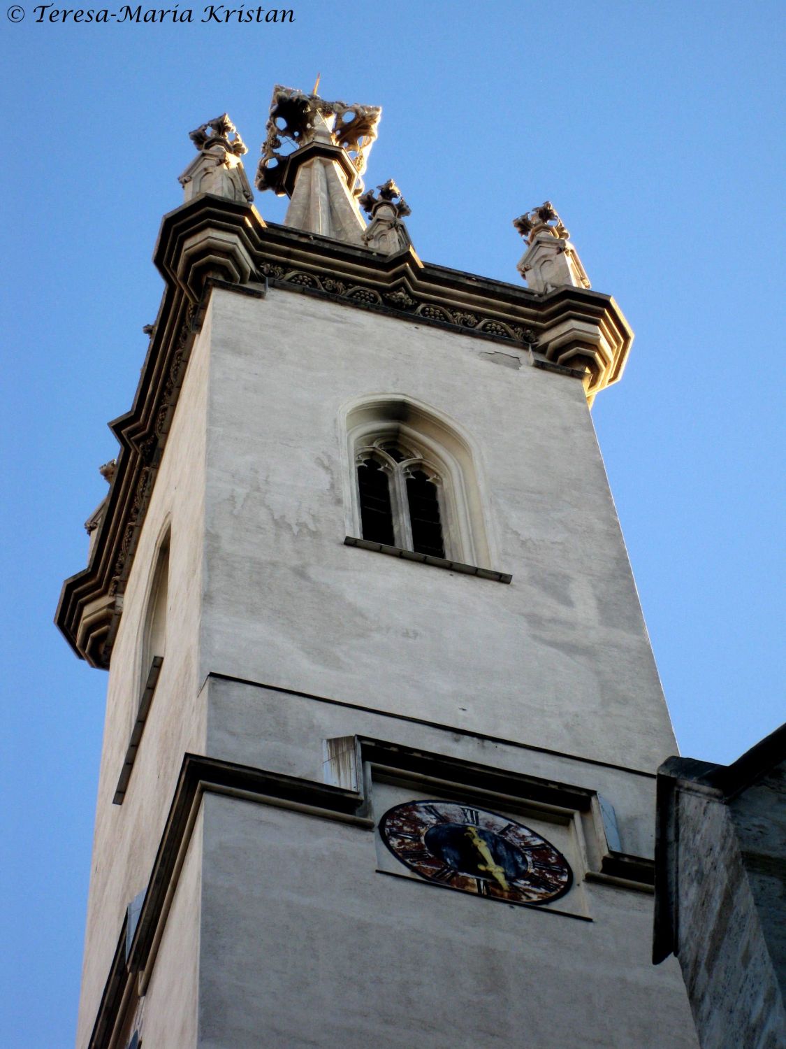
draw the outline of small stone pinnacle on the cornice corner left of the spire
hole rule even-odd
[[[199,193],[214,193],[249,204],[254,195],[240,160],[248,150],[227,114],[200,125],[189,137],[199,155],[178,178],[183,188],[183,202]]]

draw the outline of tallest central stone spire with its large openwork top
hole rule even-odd
[[[356,198],[381,110],[326,102],[315,93],[319,83],[318,74],[311,94],[274,88],[257,187],[289,196],[285,226],[363,244]]]

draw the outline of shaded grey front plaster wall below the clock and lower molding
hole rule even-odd
[[[368,831],[203,807],[200,1049],[696,1047],[651,897],[592,886],[593,922],[500,905],[376,873]]]

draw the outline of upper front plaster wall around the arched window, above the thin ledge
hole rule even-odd
[[[676,747],[584,391],[505,348],[214,293],[201,677],[654,771]],[[379,392],[474,437],[511,585],[343,545],[340,411]]]

